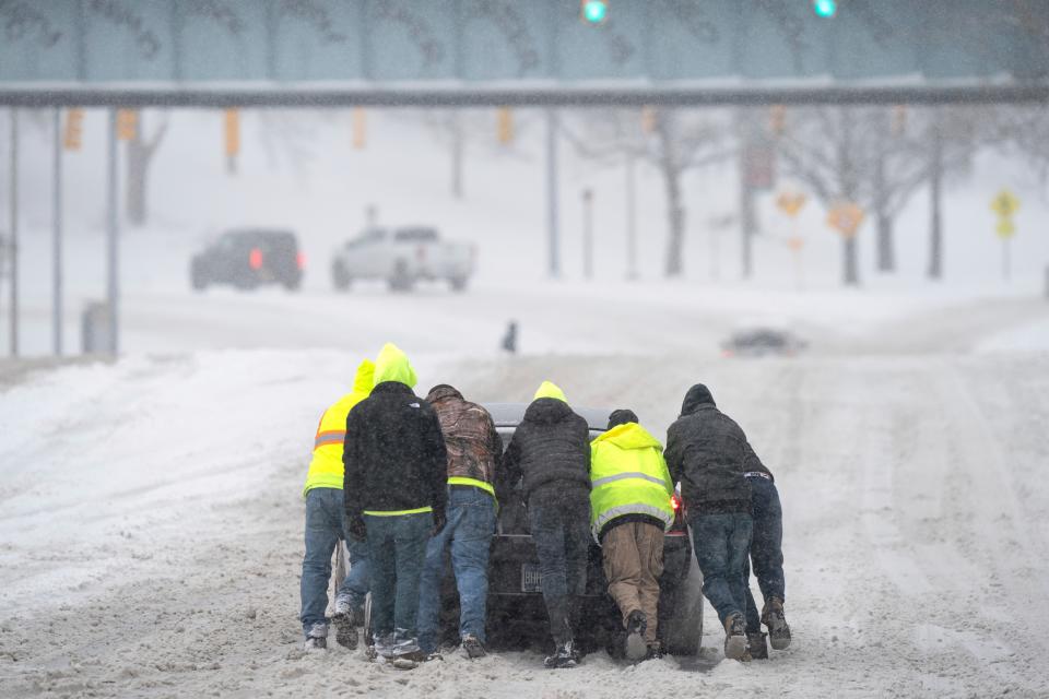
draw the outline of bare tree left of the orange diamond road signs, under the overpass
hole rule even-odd
[[[674,108],[587,111],[578,127],[566,127],[563,121],[562,129],[584,157],[605,165],[633,157],[659,170],[667,193],[663,273],[681,276],[685,247],[681,179],[689,169],[723,163],[736,154],[724,115]]]

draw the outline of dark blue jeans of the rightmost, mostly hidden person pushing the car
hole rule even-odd
[[[751,566],[762,589],[762,596],[786,600],[786,580],[783,579],[783,510],[779,505],[779,490],[767,478],[752,476],[751,505],[754,509],[754,536],[751,541],[751,560],[746,566],[746,632],[758,633],[762,619],[751,594]]]

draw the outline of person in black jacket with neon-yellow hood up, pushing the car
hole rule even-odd
[[[397,346],[382,347],[375,389],[346,419],[346,522],[367,537],[375,652],[424,660],[416,615],[426,543],[445,525],[447,454],[440,423],[412,392],[415,370]]]

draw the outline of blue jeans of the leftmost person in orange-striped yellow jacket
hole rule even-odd
[[[328,581],[331,580],[331,555],[344,540],[350,547],[350,572],[338,594],[350,595],[354,607],[363,607],[368,594],[368,548],[345,535],[345,510],[339,488],[313,488],[306,494],[306,555],[303,557],[303,580],[299,591],[303,632],[314,624],[327,624]]]

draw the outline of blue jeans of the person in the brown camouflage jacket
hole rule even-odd
[[[451,544],[451,569],[459,589],[459,637],[484,637],[488,600],[488,552],[495,533],[495,498],[471,486],[448,488],[448,523],[426,545],[419,599],[419,647],[427,653],[440,641],[440,583]]]

